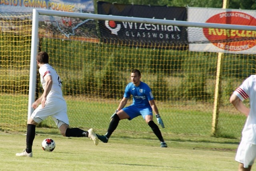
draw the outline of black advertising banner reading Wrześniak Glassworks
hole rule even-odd
[[[187,17],[184,7],[97,3],[98,14],[104,15],[182,21],[186,21]],[[133,42],[135,46],[154,44],[154,48],[173,48],[174,44],[180,44],[183,49],[187,47],[186,27],[100,20],[99,28],[103,39]]]

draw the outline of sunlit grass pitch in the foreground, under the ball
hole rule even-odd
[[[183,140],[181,135],[172,135],[173,140],[166,141],[168,148],[160,148],[154,137],[124,138],[117,133],[108,143],[99,142],[95,146],[88,138],[68,138],[36,130],[32,158],[15,156],[26,147],[23,133],[0,132],[1,171],[234,171],[238,168],[234,161],[237,140],[233,143],[214,137],[189,140],[188,136]],[[41,149],[41,142],[47,137],[56,142],[52,152]]]

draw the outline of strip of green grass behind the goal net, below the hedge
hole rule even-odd
[[[110,116],[115,111],[120,100],[90,98],[85,96],[65,96],[68,104],[70,127],[89,129],[94,127],[100,133],[108,128]],[[129,101],[130,103],[131,101]],[[6,131],[26,131],[28,97],[21,94],[2,94],[0,99],[0,129]],[[128,105],[128,104],[127,104]],[[161,129],[165,139],[172,139],[170,134],[207,135],[212,130],[212,105],[187,101],[186,105],[158,102],[158,109],[164,121],[165,128]],[[230,110],[233,109],[233,110]],[[246,117],[234,112],[234,107],[221,110],[218,119],[218,133],[216,137],[240,139],[242,127]],[[156,117],[154,117],[156,123]],[[56,128],[49,117],[42,122],[42,126]],[[116,131],[143,133],[147,138],[152,133],[150,127],[142,117],[129,121],[120,121]],[[58,132],[55,131],[55,133]]]

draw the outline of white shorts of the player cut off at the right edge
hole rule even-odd
[[[256,145],[241,141],[237,152],[235,160],[239,163],[244,164],[244,168],[248,168],[254,163],[256,159]]]

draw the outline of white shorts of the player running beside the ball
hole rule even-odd
[[[69,125],[66,101],[62,99],[47,100],[44,108],[39,105],[31,115],[36,123],[42,122],[49,116],[52,117],[58,128],[63,123]]]

